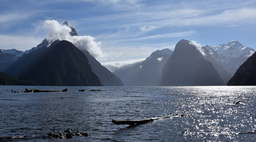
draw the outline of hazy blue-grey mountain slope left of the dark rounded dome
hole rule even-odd
[[[157,86],[160,83],[162,70],[170,57],[170,49],[154,51],[144,61],[123,66],[113,73],[126,86]]]

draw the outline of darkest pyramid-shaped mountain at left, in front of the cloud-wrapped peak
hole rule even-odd
[[[38,85],[101,86],[85,54],[64,40],[52,43],[19,79]]]

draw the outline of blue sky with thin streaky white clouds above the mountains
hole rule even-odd
[[[102,64],[138,62],[182,39],[256,49],[255,0],[1,0],[0,49],[36,47],[64,21]]]

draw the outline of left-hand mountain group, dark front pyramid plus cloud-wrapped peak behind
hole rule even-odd
[[[71,28],[70,35],[77,36],[71,24],[64,22],[63,25]],[[7,54],[7,51],[1,50],[0,59],[6,59],[4,56],[15,58],[1,60],[0,63],[5,66],[0,68],[0,72],[19,79],[31,80],[38,85],[123,86],[121,80],[102,66],[88,51],[82,52],[67,41],[52,42],[45,38],[37,47],[25,52],[14,50]],[[62,51],[62,48],[66,51]],[[57,64],[57,61],[60,64]]]

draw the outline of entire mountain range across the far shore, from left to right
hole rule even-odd
[[[63,25],[71,29],[71,36],[78,36],[70,23]],[[79,50],[68,41],[45,38],[27,51],[0,49],[0,72],[5,73],[0,79],[8,85],[157,86],[226,85],[227,82],[236,85],[238,76],[245,76],[241,70],[253,74],[249,70],[253,67],[252,61],[241,64],[254,52],[235,40],[218,46],[198,46],[193,41],[180,40],[174,51],[154,51],[142,62],[120,67],[111,73],[89,51]]]

